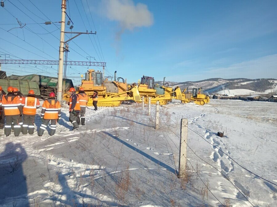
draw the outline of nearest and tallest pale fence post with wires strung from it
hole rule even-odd
[[[181,119],[181,137],[179,148],[179,178],[181,178],[187,166],[187,119]]]

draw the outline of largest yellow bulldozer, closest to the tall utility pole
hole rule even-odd
[[[130,87],[128,89],[126,80],[121,77],[116,79],[115,71],[114,81],[103,80],[102,72],[95,70],[88,70],[85,74],[85,79],[82,79],[81,86],[77,87],[77,92],[82,87],[88,96],[88,106],[92,106],[92,95],[94,91],[98,92],[98,106],[119,106],[122,101],[134,100],[140,101],[138,86]],[[122,80],[122,82],[120,82]],[[70,93],[64,94],[64,100],[67,102],[70,99]]]

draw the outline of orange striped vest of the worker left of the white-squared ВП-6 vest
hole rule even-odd
[[[18,96],[5,95],[2,98],[2,106],[4,107],[5,116],[16,116],[20,114],[19,107],[21,106],[21,101]]]

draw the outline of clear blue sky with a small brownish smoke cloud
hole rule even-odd
[[[71,41],[68,58],[105,60],[110,72],[106,75],[116,70],[128,82],[137,82],[142,75],[176,82],[277,78],[277,1],[82,0],[85,10],[81,0],[67,3],[72,31],[97,31],[97,36],[81,35]],[[6,0],[0,7],[0,53],[11,54],[11,59],[58,59],[59,23],[34,24],[49,21],[47,17],[60,21],[61,1]],[[3,25],[17,24],[16,18],[27,24],[25,28]],[[2,64],[2,70],[56,76],[57,66]],[[80,76],[86,70],[74,66],[68,75]]]

